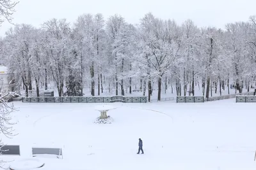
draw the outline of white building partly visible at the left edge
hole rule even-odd
[[[8,68],[0,64],[0,96],[13,92],[15,90],[15,81],[10,78]]]

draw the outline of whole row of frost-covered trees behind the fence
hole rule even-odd
[[[105,22],[101,14],[85,14],[73,25],[55,18],[40,28],[16,25],[1,39],[1,49],[4,64],[27,95],[35,86],[39,96],[52,80],[59,96],[83,96],[84,87],[92,96],[112,89],[124,96],[138,88],[148,100],[158,89],[160,101],[169,87],[177,96],[190,96],[200,85],[209,97],[212,87],[219,86],[221,95],[231,83],[239,92],[253,85],[256,19],[227,24],[223,31],[199,29],[191,20],[177,25],[152,13],[136,26],[120,15]]]

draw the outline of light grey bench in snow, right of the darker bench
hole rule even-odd
[[[61,148],[32,148],[32,156],[63,159]]]

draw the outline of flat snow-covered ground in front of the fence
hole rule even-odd
[[[115,122],[104,125],[93,124],[99,103],[14,104],[19,135],[1,138],[21,156],[0,159],[31,158],[32,146],[43,146],[61,147],[63,160],[40,159],[42,170],[256,169],[255,103],[113,103]]]

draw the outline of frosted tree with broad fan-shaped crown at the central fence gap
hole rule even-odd
[[[149,60],[154,68],[154,76],[157,78],[157,100],[161,101],[163,76],[174,65],[180,49],[178,27],[174,21],[155,18],[151,13],[141,20],[141,27],[146,34],[145,46],[149,50]]]

